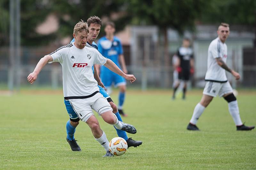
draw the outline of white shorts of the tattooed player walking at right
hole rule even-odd
[[[217,95],[222,97],[227,93],[232,93],[233,89],[230,83],[227,81],[225,83],[207,81],[204,87],[204,95],[216,97]]]

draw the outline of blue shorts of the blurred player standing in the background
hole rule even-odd
[[[112,83],[114,83],[115,86],[126,85],[124,77],[109,71],[102,72],[100,79],[106,87],[112,86]]]

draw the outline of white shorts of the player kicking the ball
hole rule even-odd
[[[99,115],[106,111],[113,111],[107,99],[100,93],[86,99],[70,99],[69,102],[77,116],[83,122],[86,122],[92,115],[94,115],[92,109]]]

